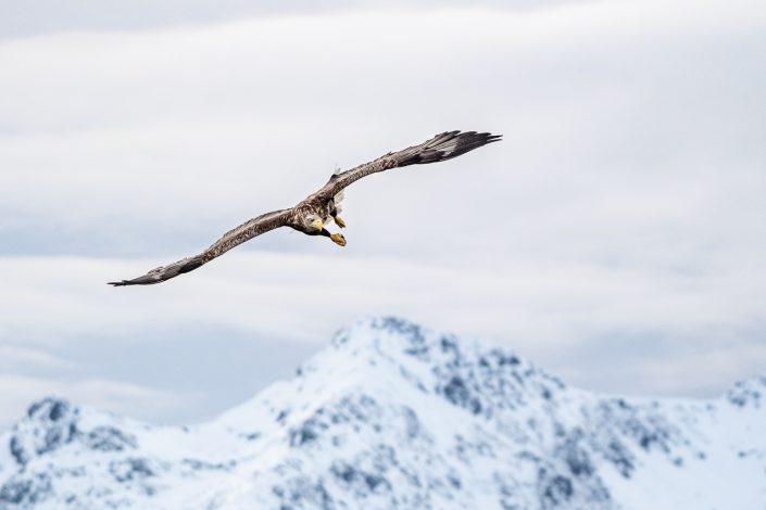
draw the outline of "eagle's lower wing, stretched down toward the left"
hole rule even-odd
[[[152,269],[146,275],[134,278],[133,280],[109,282],[109,284],[114,286],[151,285],[153,283],[162,283],[165,280],[177,277],[178,275],[193,271],[203,264],[208,264],[215,257],[219,257],[224,253],[239,244],[242,244],[243,242],[250,241],[251,239],[268,232],[269,230],[284,227],[290,218],[291,211],[292,209],[274,211],[273,213],[258,216],[243,222],[236,229],[229,230],[208,250],[198,255],[186,257],[167,266],[158,267],[156,269]]]

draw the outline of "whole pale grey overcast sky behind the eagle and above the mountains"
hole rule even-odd
[[[602,392],[766,372],[763,1],[530,4],[0,1],[0,424],[204,420],[363,315]],[[450,129],[504,141],[355,183],[344,248],[105,285]]]

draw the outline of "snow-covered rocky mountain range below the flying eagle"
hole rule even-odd
[[[371,318],[206,424],[33,404],[0,435],[0,509],[764,509],[765,400],[766,378],[597,395]]]

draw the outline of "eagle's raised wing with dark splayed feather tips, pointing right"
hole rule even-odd
[[[476,131],[448,131],[437,135],[430,140],[404,149],[399,152],[389,152],[385,156],[365,163],[350,170],[334,175],[330,180],[313,196],[329,199],[337,195],[343,188],[357,181],[364,176],[377,171],[388,170],[407,165],[425,165],[427,163],[443,162],[452,160],[466,152],[478,149],[488,143],[497,142],[502,135],[490,135],[489,132]]]

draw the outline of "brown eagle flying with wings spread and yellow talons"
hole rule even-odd
[[[466,152],[491,142],[497,142],[502,135],[476,131],[447,131],[413,145],[403,151],[389,152],[375,161],[365,163],[347,171],[336,171],[315,193],[310,194],[298,205],[287,209],[273,211],[250,219],[239,227],[226,232],[204,252],[186,257],[177,263],[152,269],[133,280],[109,282],[110,285],[151,285],[184,275],[219,257],[235,246],[280,227],[290,227],[306,235],[319,235],[330,239],[339,246],[346,246],[341,233],[330,233],[325,227],[334,221],[344,228],[346,222],[339,214],[342,209],[343,190],[359,179],[378,171],[410,165],[425,165],[452,160]]]

